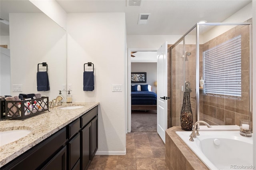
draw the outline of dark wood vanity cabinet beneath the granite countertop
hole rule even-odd
[[[97,149],[98,106],[0,169],[86,170]]]

